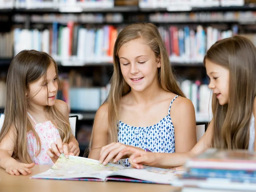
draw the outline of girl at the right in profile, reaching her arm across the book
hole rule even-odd
[[[212,89],[213,118],[207,131],[191,151],[156,154],[126,148],[118,160],[128,155],[136,168],[182,166],[187,158],[207,148],[256,151],[256,47],[242,36],[217,41],[204,57]]]

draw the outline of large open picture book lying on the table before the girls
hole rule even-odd
[[[90,181],[119,180],[172,184],[172,181],[177,180],[182,174],[183,171],[149,166],[145,166],[144,169],[135,169],[111,163],[104,166],[99,164],[97,160],[76,156],[70,156],[66,159],[64,154],[61,154],[52,168],[30,178]]]

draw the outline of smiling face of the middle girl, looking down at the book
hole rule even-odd
[[[157,69],[161,62],[142,38],[123,44],[118,56],[122,76],[132,90],[140,92],[157,86]]]

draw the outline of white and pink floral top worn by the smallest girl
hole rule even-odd
[[[58,129],[52,124],[51,121],[36,123],[35,119],[28,113],[32,121],[35,123],[33,127],[38,134],[41,142],[41,152],[36,156],[39,150],[38,143],[35,139],[35,134],[32,131],[27,132],[27,148],[31,160],[39,165],[53,165],[51,158],[47,155],[47,150],[51,147],[52,143],[56,143],[60,138]]]

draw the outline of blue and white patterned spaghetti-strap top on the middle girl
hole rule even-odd
[[[152,152],[174,153],[174,126],[172,124],[170,110],[172,103],[177,97],[178,95],[172,99],[168,115],[155,125],[149,127],[133,127],[119,121],[118,142],[143,148],[144,150],[148,148]],[[128,159],[119,160],[118,164],[130,166]]]

